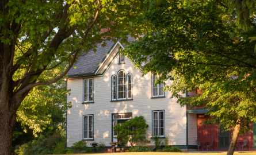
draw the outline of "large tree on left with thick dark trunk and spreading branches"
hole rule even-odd
[[[139,0],[0,1],[0,154],[11,153],[17,109],[36,86],[62,79],[77,56],[95,49],[102,36],[136,37],[133,21],[145,3]],[[102,28],[109,32],[100,34]],[[44,77],[62,63],[56,76]],[[19,78],[17,78],[18,76]]]

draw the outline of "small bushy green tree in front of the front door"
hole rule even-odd
[[[143,116],[135,117],[123,123],[123,125],[114,126],[114,131],[117,131],[117,139],[119,144],[128,142],[131,147],[137,142],[150,142],[147,140],[146,128],[148,127]]]

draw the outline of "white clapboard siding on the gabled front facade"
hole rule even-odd
[[[142,72],[134,69],[127,57],[125,64],[117,63],[118,59],[115,59],[103,76],[94,77],[94,103],[82,104],[82,78],[68,79],[67,89],[71,89],[71,95],[67,96],[67,102],[72,102],[72,108],[67,110],[67,147],[82,140],[82,116],[87,114],[94,114],[95,142],[102,141],[110,146],[113,113],[132,113],[132,117],[143,115],[150,126],[147,137],[151,140],[152,110],[165,110],[165,132],[170,135],[169,145],[186,145],[186,108],[181,108],[177,99],[170,99],[170,92],[165,92],[166,98],[151,99],[151,74],[142,77]],[[111,76],[120,69],[132,73],[133,100],[110,102]],[[146,145],[154,145],[154,142]]]

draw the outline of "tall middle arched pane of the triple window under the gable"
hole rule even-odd
[[[126,99],[126,74],[120,71],[117,75],[117,99]]]

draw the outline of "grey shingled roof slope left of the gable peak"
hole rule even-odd
[[[133,40],[136,39],[128,36],[129,42],[132,42]],[[68,77],[77,75],[95,75],[96,70],[101,67],[101,62],[104,61],[106,55],[112,52],[112,49],[118,45],[117,43],[120,44],[119,41],[106,41],[105,47],[102,47],[100,44],[97,45],[96,52],[91,49],[88,53],[83,53],[78,57],[77,63],[74,64],[76,68],[72,67],[68,71]]]

